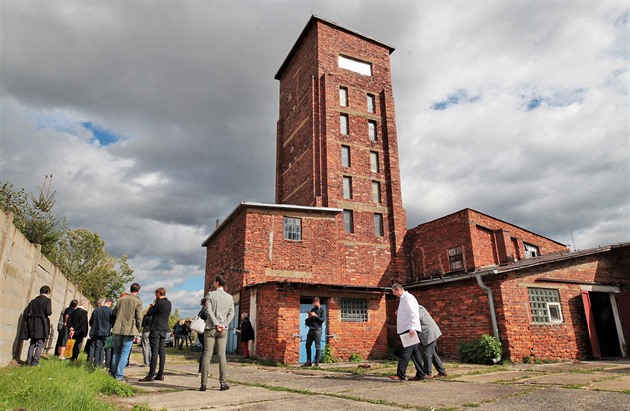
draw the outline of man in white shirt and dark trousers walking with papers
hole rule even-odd
[[[410,337],[415,337],[421,330],[420,317],[418,315],[418,300],[405,291],[403,286],[398,283],[392,285],[392,293],[400,298],[398,311],[396,311],[396,332],[398,335],[408,333]],[[413,378],[413,381],[424,380],[426,373],[422,369],[422,359],[420,358],[418,344],[411,344],[407,347],[403,346],[402,354],[398,359],[396,375],[391,375],[389,378],[392,380],[406,381],[407,365],[410,359],[413,360],[413,365],[416,367],[416,376]]]

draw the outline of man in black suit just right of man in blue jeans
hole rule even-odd
[[[171,315],[171,302],[166,298],[166,289],[160,287],[155,290],[155,301],[153,306],[149,308],[147,314],[152,317],[149,326],[149,341],[151,343],[151,365],[149,366],[149,375],[141,378],[140,381],[164,380],[164,365],[166,362],[166,334],[170,330],[168,326],[168,317]],[[157,374],[155,368],[158,358],[160,359],[160,368]]]

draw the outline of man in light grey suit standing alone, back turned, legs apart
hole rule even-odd
[[[199,388],[199,391],[206,390],[208,369],[210,368],[210,359],[212,358],[215,342],[217,344],[217,355],[219,356],[220,390],[230,389],[226,380],[227,362],[225,359],[225,347],[227,344],[228,326],[234,317],[234,300],[230,294],[225,292],[224,286],[225,278],[222,275],[217,275],[214,278],[213,290],[206,294],[208,319],[206,320],[206,330],[203,333],[203,366],[201,367],[201,388]]]

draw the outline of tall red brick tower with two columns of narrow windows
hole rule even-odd
[[[392,280],[400,272],[407,229],[393,51],[313,15],[275,76],[280,81],[276,203],[343,209],[347,268],[373,255],[387,262],[374,268],[384,268],[381,274]]]

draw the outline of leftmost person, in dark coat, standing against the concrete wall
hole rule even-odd
[[[31,300],[24,310],[26,319],[27,338],[31,339],[28,346],[26,363],[31,366],[39,365],[39,357],[44,349],[46,338],[50,334],[50,319],[52,304],[50,302],[50,287],[47,285],[39,289],[39,295]]]

